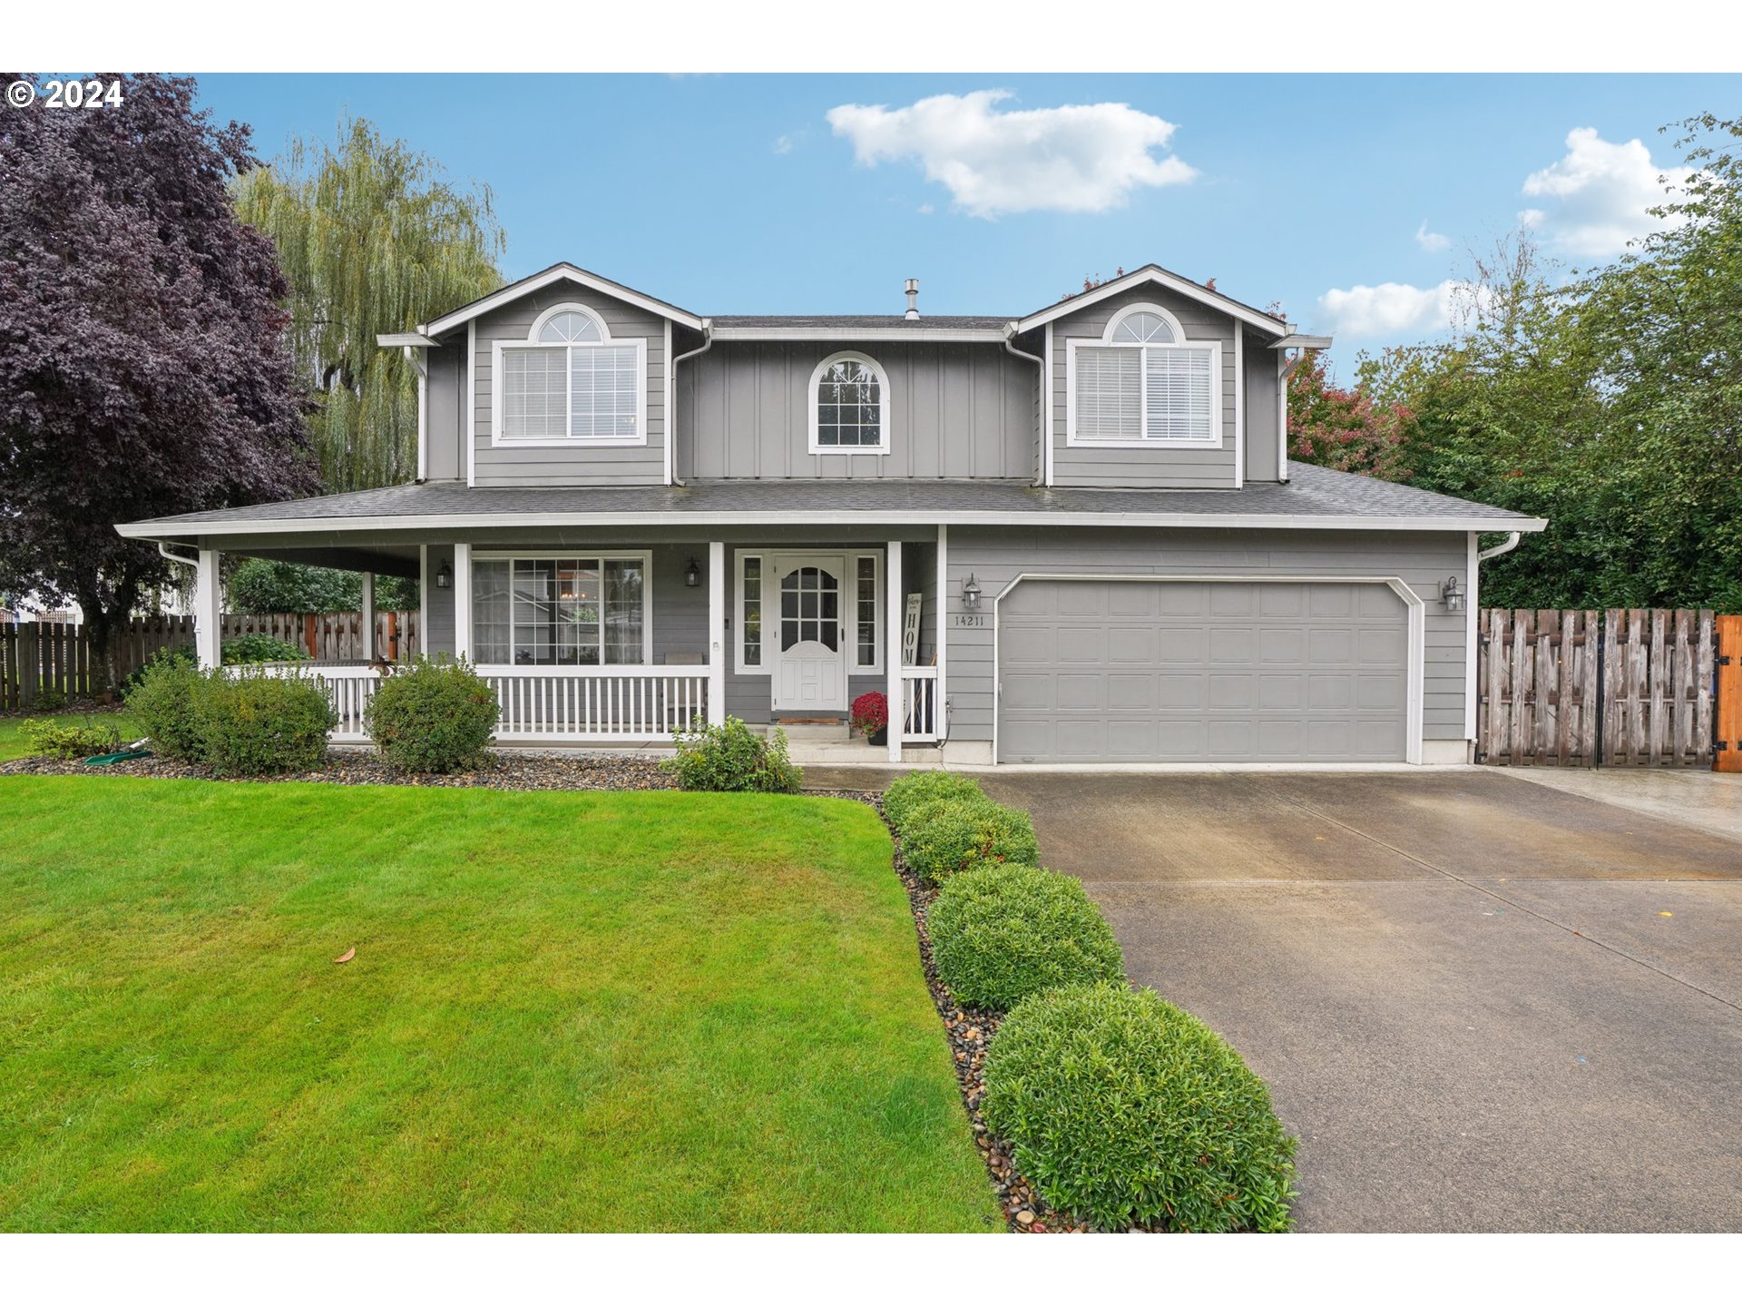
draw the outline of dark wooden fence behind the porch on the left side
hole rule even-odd
[[[296,645],[315,662],[362,659],[362,613],[225,613],[223,640],[265,634]],[[375,615],[375,650],[388,662],[420,652],[418,615]],[[162,648],[193,648],[192,617],[134,617],[115,631],[115,673],[129,676]],[[103,669],[91,660],[82,626],[0,622],[0,711],[33,708],[44,690],[68,699],[96,694]]]

